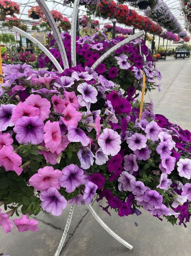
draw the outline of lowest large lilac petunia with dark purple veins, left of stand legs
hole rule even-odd
[[[52,215],[62,215],[62,209],[66,208],[67,201],[55,187],[51,187],[48,190],[44,190],[40,193],[40,200],[42,203],[40,206],[43,210]]]

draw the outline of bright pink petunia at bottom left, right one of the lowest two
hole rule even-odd
[[[23,215],[20,219],[13,219],[13,222],[17,226],[19,232],[28,230],[33,232],[38,231],[38,221],[36,219],[29,219],[26,215]]]

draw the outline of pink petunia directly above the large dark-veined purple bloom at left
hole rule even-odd
[[[39,108],[35,108],[23,102],[19,102],[11,117],[11,121],[15,124],[17,120],[22,116],[38,116],[39,113]]]

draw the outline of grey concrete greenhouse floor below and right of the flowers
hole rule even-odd
[[[155,103],[155,113],[176,120],[184,129],[191,130],[191,58],[157,62],[162,73],[162,91],[150,93]],[[103,202],[104,205],[104,202]],[[86,210],[76,207],[66,243],[61,256],[190,256],[191,225],[172,226],[161,222],[149,213],[112,217],[95,202],[95,211],[103,221],[123,239],[134,246],[132,251],[115,241]],[[54,256],[66,223],[69,206],[60,217],[46,212],[38,215],[39,231],[18,233],[16,228],[6,235],[0,228],[0,254],[10,256]],[[135,226],[135,222],[138,226]]]

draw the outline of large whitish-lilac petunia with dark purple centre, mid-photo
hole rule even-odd
[[[104,129],[103,133],[98,138],[98,144],[104,154],[117,155],[121,149],[120,135],[112,129]]]

